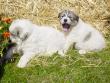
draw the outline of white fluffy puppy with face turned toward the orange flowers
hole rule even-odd
[[[10,39],[16,43],[14,51],[22,56],[17,64],[23,68],[35,55],[63,54],[64,34],[53,27],[38,26],[27,19],[18,19],[9,27]]]

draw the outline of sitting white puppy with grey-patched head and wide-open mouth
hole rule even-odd
[[[58,15],[63,31],[67,33],[65,51],[74,43],[80,54],[88,51],[98,51],[105,47],[103,35],[85,23],[74,12],[64,10]]]

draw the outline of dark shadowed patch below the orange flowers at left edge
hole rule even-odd
[[[15,46],[14,43],[11,43],[9,40],[9,44],[5,47],[2,51],[2,56],[0,56],[0,80],[4,74],[4,67],[7,63],[15,61],[13,58],[13,47]]]

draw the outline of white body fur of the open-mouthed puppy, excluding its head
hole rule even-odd
[[[84,38],[89,33],[91,34],[90,38],[84,42]],[[80,54],[85,54],[88,51],[99,51],[106,46],[103,35],[80,18],[78,24],[72,28],[66,40],[65,51],[75,43],[75,48],[79,50]]]

